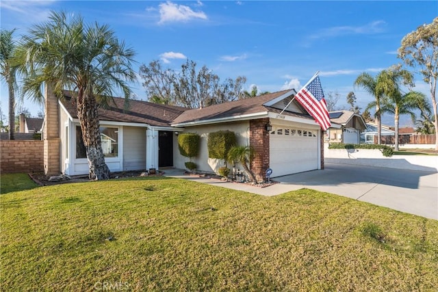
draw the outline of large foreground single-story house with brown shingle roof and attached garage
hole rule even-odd
[[[72,92],[64,92],[59,103],[53,102],[53,93],[46,94],[49,122],[44,124],[44,148],[48,149],[44,150],[44,171],[88,174]],[[188,158],[179,154],[177,135],[190,132],[201,135],[200,154],[193,159],[197,169],[217,172],[224,161],[209,159],[207,137],[211,132],[229,130],[235,132],[238,144],[255,149],[250,167],[260,181],[268,168],[272,177],[322,169],[324,147],[319,124],[295,101],[280,114],[294,94],[295,90],[283,90],[202,109],[145,101],[129,101],[129,108],[124,109],[125,100],[114,98],[110,107],[99,109],[105,162],[112,172],[183,169]],[[56,115],[59,117],[53,117]]]

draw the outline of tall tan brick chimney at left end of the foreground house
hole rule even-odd
[[[60,174],[60,106],[47,84],[44,93],[44,173]]]

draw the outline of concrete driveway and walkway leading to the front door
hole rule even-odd
[[[306,187],[438,220],[438,173],[436,172],[336,163],[326,163],[325,167],[325,170],[274,178],[274,181],[280,183],[264,188],[188,176],[183,174],[183,170],[166,170],[164,175],[263,196],[276,196]]]

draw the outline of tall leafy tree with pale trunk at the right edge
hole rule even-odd
[[[438,17],[432,23],[422,25],[417,30],[404,36],[398,49],[398,57],[411,67],[420,67],[424,82],[430,86],[435,133],[435,150],[438,150],[438,113],[437,113],[437,79],[438,79]]]

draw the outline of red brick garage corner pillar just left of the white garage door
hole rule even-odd
[[[255,150],[255,157],[250,165],[257,181],[264,181],[266,170],[269,168],[269,133],[266,131],[266,124],[269,118],[250,120],[249,122],[249,143]]]

